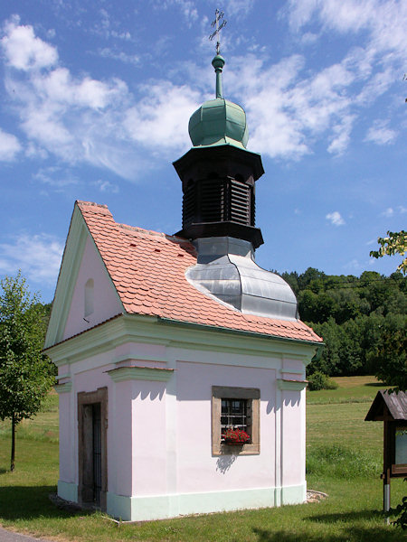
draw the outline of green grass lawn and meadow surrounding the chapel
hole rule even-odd
[[[340,388],[308,392],[308,487],[319,503],[238,511],[133,525],[99,513],[55,508],[48,495],[58,479],[57,402],[18,429],[16,471],[9,468],[9,428],[0,424],[0,524],[57,540],[216,542],[400,542],[402,529],[385,524],[382,509],[383,425],[364,422],[377,391],[373,378],[337,378]],[[392,481],[392,503],[402,500]]]

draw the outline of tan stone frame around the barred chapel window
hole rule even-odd
[[[247,401],[248,416],[251,416],[248,444],[222,443],[221,417],[222,399]],[[249,420],[248,420],[249,421]],[[248,424],[249,425],[249,424]],[[226,386],[212,387],[212,454],[213,455],[258,455],[260,453],[260,389]]]

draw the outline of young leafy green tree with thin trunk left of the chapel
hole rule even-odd
[[[46,314],[21,272],[0,281],[0,419],[12,423],[10,469],[14,471],[15,428],[33,417],[54,381],[54,366],[43,355]]]

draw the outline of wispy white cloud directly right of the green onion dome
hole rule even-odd
[[[345,62],[304,74],[305,62],[297,54],[266,68],[259,55],[248,55],[228,73],[228,88],[242,97],[257,152],[299,159],[324,133],[329,153],[341,154],[349,144],[356,117],[346,89],[355,74]]]

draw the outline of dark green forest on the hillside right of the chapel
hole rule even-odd
[[[405,378],[407,277],[326,275],[313,267],[280,276],[297,295],[301,320],[326,344],[308,365],[308,376],[374,374],[392,385]]]

